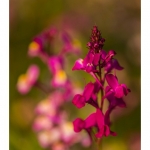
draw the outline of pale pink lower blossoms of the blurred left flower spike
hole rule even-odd
[[[33,130],[37,133],[38,141],[43,148],[66,150],[75,143],[81,142],[89,146],[90,139],[86,134],[73,131],[73,124],[68,120],[65,110],[62,110],[64,93],[55,91],[49,97],[39,102],[35,108],[36,117]]]

